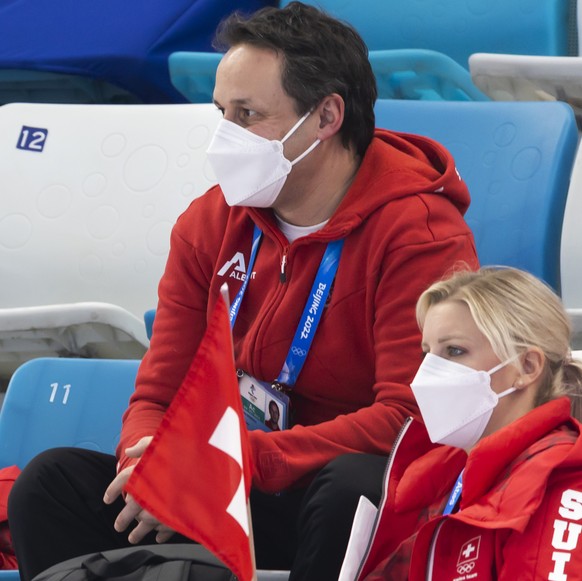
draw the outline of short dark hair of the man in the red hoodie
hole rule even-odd
[[[332,93],[340,95],[345,103],[342,143],[364,155],[374,135],[377,89],[368,49],[353,27],[313,6],[291,2],[251,16],[235,12],[223,20],[214,47],[226,51],[239,44],[283,56],[281,82],[298,115]]]

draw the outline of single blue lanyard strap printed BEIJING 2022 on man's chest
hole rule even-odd
[[[309,298],[305,303],[299,326],[295,331],[291,348],[287,353],[283,369],[277,378],[278,383],[289,387],[295,385],[295,381],[297,381],[297,377],[301,369],[303,369],[303,364],[307,359],[307,353],[311,347],[315,331],[321,321],[325,303],[339,266],[343,245],[343,240],[336,240],[327,245],[315,275]]]

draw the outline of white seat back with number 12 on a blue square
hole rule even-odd
[[[97,301],[141,318],[178,215],[213,183],[213,105],[0,108],[0,308]]]

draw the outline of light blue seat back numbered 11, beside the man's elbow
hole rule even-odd
[[[39,358],[20,366],[0,409],[0,467],[48,448],[114,453],[139,361]],[[18,571],[0,571],[17,581]]]

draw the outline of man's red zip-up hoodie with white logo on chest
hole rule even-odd
[[[218,187],[178,219],[159,285],[155,332],[124,416],[118,453],[152,435],[190,365],[220,286],[236,295],[253,228],[263,232],[233,330],[235,360],[257,379],[281,371],[327,243],[344,239],[335,283],[292,394],[294,425],[250,433],[255,487],[305,484],[339,454],[387,454],[417,415],[419,294],[451,267],[477,266],[463,220],[469,194],[451,155],[419,136],[377,130],[342,203],[292,244],[271,210],[228,207]],[[284,276],[282,276],[284,270]],[[217,389],[217,386],[208,386]],[[204,410],[192,410],[196,414]]]

